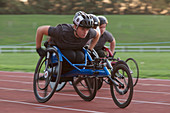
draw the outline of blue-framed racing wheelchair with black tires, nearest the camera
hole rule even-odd
[[[127,107],[133,97],[133,82],[127,66],[117,63],[113,68],[108,59],[92,59],[85,48],[83,51],[84,62],[73,64],[58,47],[46,48],[47,54],[40,57],[34,73],[33,90],[37,101],[47,102],[55,93],[58,84],[67,81],[72,82],[75,91],[83,100],[91,101],[95,98],[98,89],[97,79],[102,77],[108,79],[115,104],[120,108]],[[63,59],[74,67],[73,70],[64,74],[61,73]],[[41,76],[44,80],[39,79]]]

